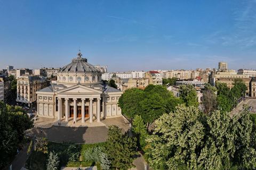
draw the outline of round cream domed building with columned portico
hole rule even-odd
[[[121,116],[118,99],[122,91],[103,84],[101,72],[82,58],[80,50],[77,58],[59,70],[57,79],[36,92],[38,116],[82,123]]]

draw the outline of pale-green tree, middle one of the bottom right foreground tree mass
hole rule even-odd
[[[230,169],[236,150],[234,131],[229,114],[214,111],[207,116],[205,145],[198,158],[199,169]]]

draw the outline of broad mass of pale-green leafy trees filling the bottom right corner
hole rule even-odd
[[[255,169],[256,132],[248,106],[233,118],[180,105],[156,121],[149,135],[149,163],[154,169]],[[159,156],[161,155],[161,156]]]

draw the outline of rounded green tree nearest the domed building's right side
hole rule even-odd
[[[122,109],[122,114],[132,122],[135,115],[140,114],[140,101],[142,89],[131,88],[125,90],[118,100],[118,106]]]

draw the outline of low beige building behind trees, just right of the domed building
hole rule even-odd
[[[131,88],[145,88],[149,84],[149,79],[147,78],[130,78],[124,79],[122,81],[122,91],[124,92],[127,89]]]

